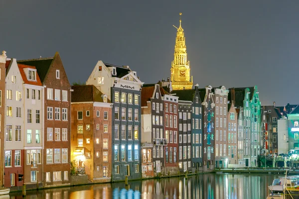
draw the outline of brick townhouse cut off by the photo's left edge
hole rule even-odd
[[[0,54],[0,154],[4,154],[4,120],[5,120],[5,64],[6,52]],[[0,156],[0,186],[4,186],[4,156]]]

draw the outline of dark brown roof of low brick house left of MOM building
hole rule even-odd
[[[72,101],[71,102],[87,102],[87,101],[97,101],[104,102],[101,91],[99,91],[94,85],[79,85],[72,86],[74,90],[71,92]],[[110,100],[107,99],[107,102],[110,103]]]

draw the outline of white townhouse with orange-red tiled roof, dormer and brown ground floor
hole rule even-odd
[[[18,64],[23,88],[19,100],[23,99],[23,132],[24,132],[24,183],[26,189],[42,187],[43,175],[43,112],[44,87],[34,66]],[[19,98],[19,97],[17,97]],[[15,129],[15,136],[21,129]]]

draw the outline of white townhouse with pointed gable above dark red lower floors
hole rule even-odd
[[[22,77],[15,59],[6,61],[4,187],[21,189],[24,183],[24,99]],[[35,79],[35,78],[34,78]],[[4,101],[3,101],[4,102]],[[3,104],[4,105],[4,104]],[[15,133],[13,133],[15,132]]]

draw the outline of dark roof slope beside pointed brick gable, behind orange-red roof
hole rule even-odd
[[[30,60],[19,60],[19,61],[17,61],[17,63],[25,64],[25,65],[29,65],[29,66],[35,66],[37,73],[39,75],[40,81],[44,82],[45,77],[47,75],[47,72],[48,72],[51,64],[52,64],[53,59],[54,59],[54,57],[30,59]]]

